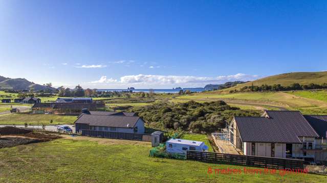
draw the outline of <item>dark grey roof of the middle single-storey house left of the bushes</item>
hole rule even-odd
[[[104,116],[104,115],[89,115],[82,114],[75,121],[77,124],[88,124],[90,126],[108,126],[121,128],[134,128],[140,117],[129,116]]]

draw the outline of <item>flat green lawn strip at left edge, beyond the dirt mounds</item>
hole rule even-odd
[[[6,114],[0,115],[0,124],[24,125],[25,122],[31,125],[73,124],[76,118],[76,116],[50,114]],[[53,120],[53,123],[50,123],[51,119]]]

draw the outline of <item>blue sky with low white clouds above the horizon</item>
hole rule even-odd
[[[0,1],[0,75],[203,87],[327,70],[327,1]]]

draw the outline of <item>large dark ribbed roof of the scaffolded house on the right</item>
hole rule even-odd
[[[299,111],[266,111],[266,117],[234,117],[243,142],[301,143],[319,137]]]

